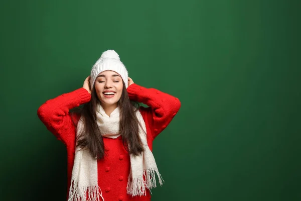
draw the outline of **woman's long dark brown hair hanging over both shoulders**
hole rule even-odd
[[[92,156],[97,159],[101,159],[105,152],[101,131],[96,123],[97,104],[100,104],[100,101],[97,97],[94,85],[91,92],[90,102],[80,109],[80,114],[83,117],[84,129],[77,137],[77,147],[88,149]],[[135,156],[138,156],[142,151],[144,151],[138,134],[138,126],[141,125],[135,115],[135,112],[138,110],[137,106],[139,106],[137,102],[133,102],[129,99],[123,82],[122,94],[118,101],[118,107],[120,110],[119,132],[122,136],[125,150]]]

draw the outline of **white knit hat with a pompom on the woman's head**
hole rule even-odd
[[[118,73],[125,83],[125,88],[127,88],[127,77],[128,73],[120,61],[119,55],[114,50],[107,50],[103,52],[100,58],[96,61],[91,69],[90,75],[90,85],[93,88],[96,77],[103,71],[112,70]]]

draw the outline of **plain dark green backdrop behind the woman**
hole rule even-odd
[[[300,200],[299,1],[1,1],[1,200],[65,200],[37,117],[114,49],[182,107],[154,141],[152,200]]]

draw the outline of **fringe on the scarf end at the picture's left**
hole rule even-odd
[[[78,187],[78,182],[72,179],[68,201],[100,201],[100,197],[104,201],[101,189],[98,185]]]

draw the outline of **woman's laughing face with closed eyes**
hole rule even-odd
[[[117,107],[123,88],[122,78],[118,73],[111,70],[103,71],[97,76],[94,85],[101,106]]]

